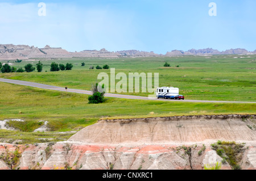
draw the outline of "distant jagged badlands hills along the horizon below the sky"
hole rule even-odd
[[[159,56],[208,56],[213,54],[256,54],[249,52],[246,49],[229,49],[225,51],[218,51],[212,48],[205,49],[190,49],[172,50],[166,54],[156,54],[154,52],[144,52],[139,50],[122,50],[117,52],[109,52],[105,48],[101,50],[83,50],[81,52],[68,52],[62,48],[51,48],[46,45],[44,48],[30,47],[28,45],[13,45],[13,44],[0,44],[0,60],[16,60],[28,58],[118,58],[118,57],[159,57]]]

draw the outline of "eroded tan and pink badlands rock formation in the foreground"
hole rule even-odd
[[[65,142],[0,144],[0,155],[18,151],[16,169],[203,169],[222,162],[210,144],[230,140],[245,147],[242,169],[255,169],[255,120],[256,115],[99,120]],[[227,162],[221,168],[232,169]],[[13,167],[0,159],[0,169]]]

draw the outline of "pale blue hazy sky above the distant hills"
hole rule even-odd
[[[216,16],[209,15],[211,2]],[[254,51],[255,8],[255,0],[0,0],[0,44],[49,45],[69,52]]]

